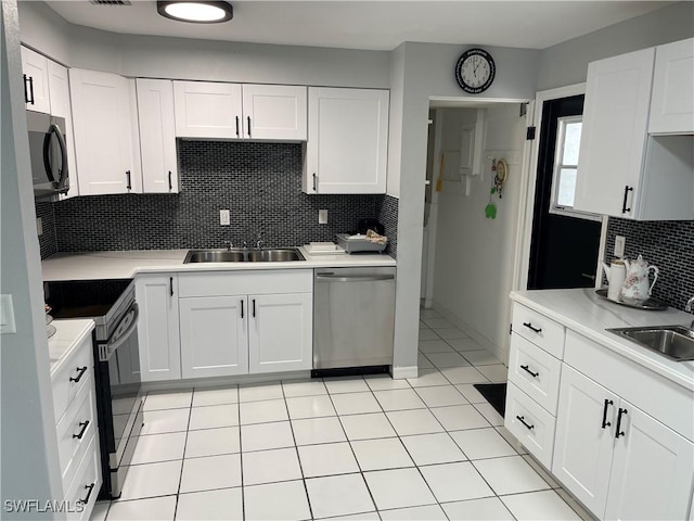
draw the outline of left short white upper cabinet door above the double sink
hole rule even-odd
[[[241,85],[174,81],[176,136],[241,138]]]

